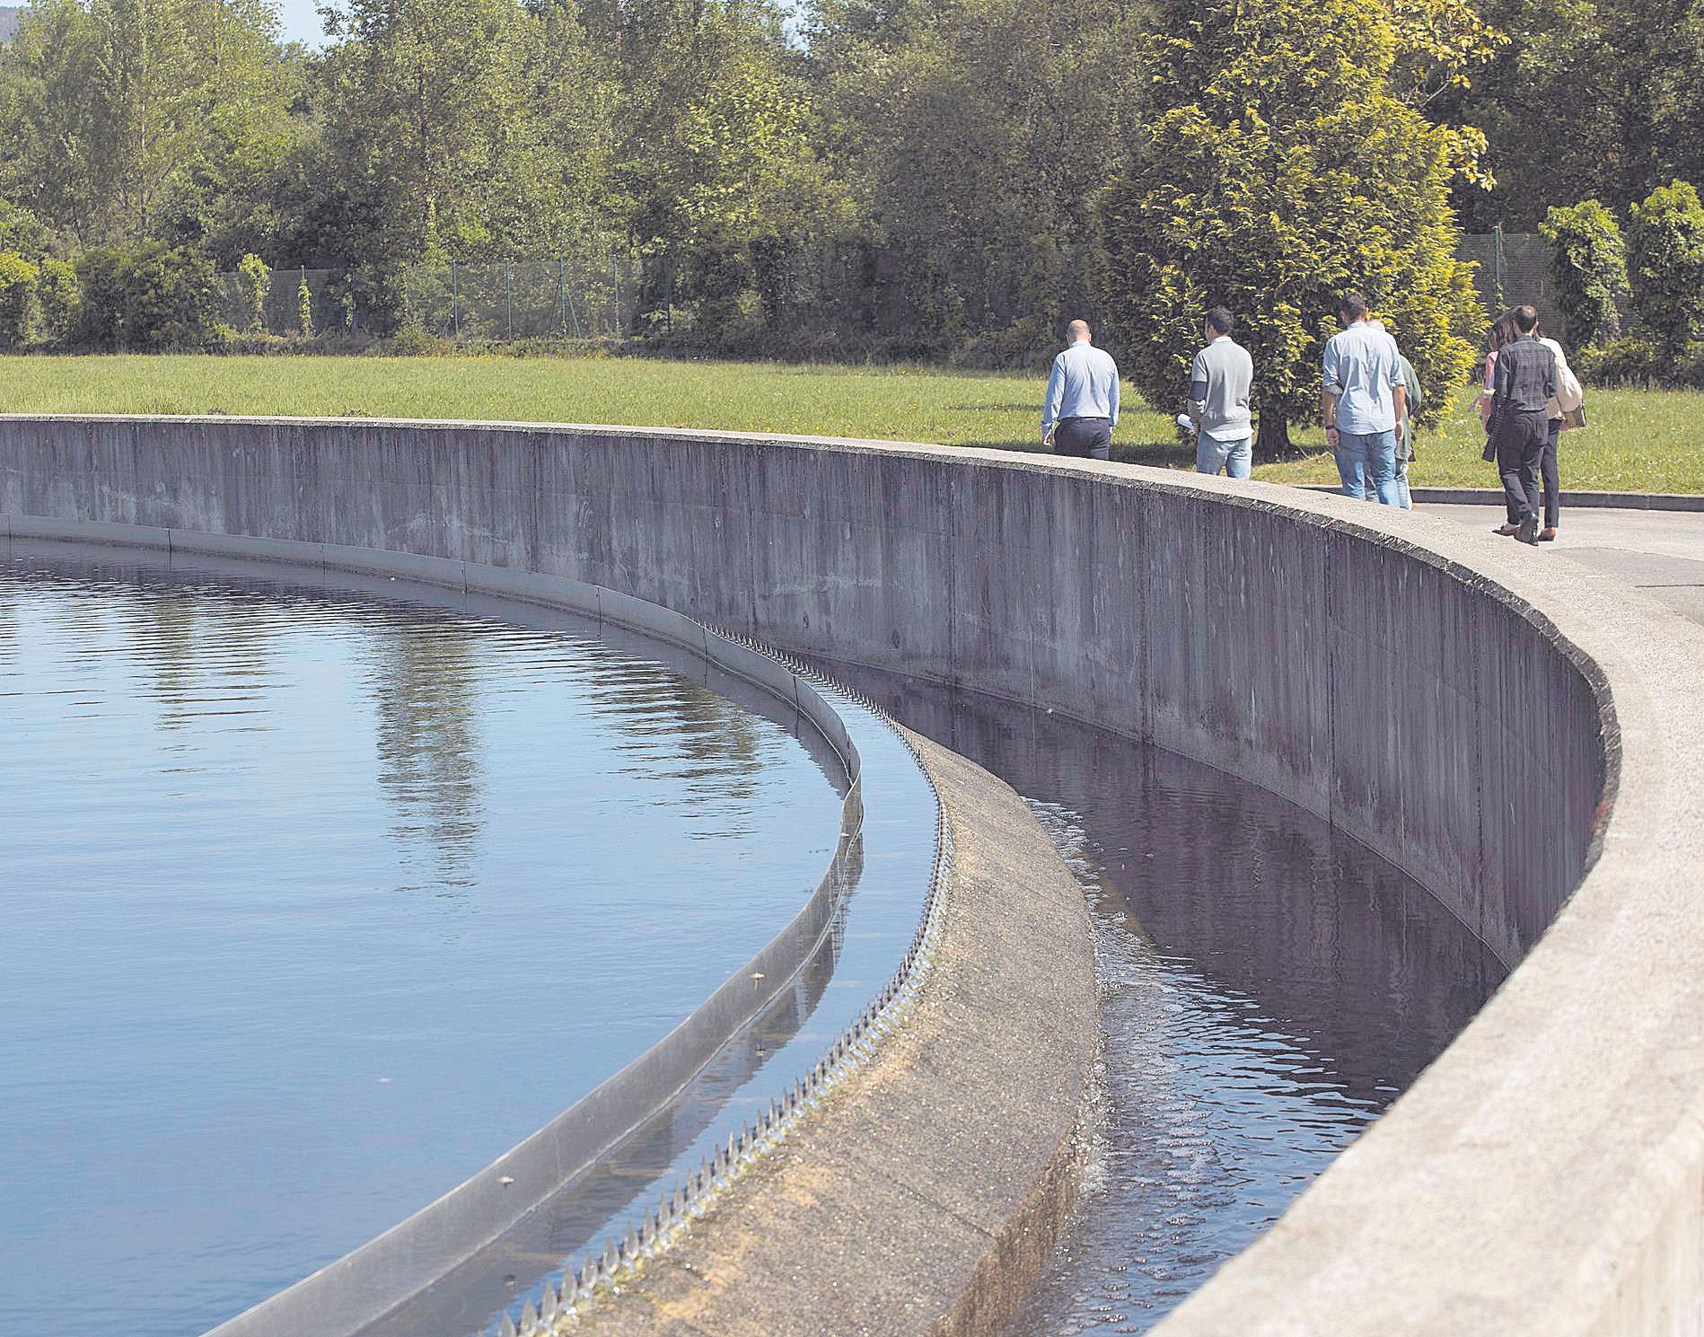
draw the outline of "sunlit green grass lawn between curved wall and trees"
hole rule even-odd
[[[460,417],[722,427],[1036,450],[1041,380],[918,368],[687,363],[646,358],[0,358],[0,412]],[[1135,400],[1135,395],[1130,395]],[[1126,405],[1114,456],[1191,467],[1171,414]],[[1563,485],[1704,492],[1704,393],[1598,390],[1563,438]],[[1472,395],[1423,433],[1416,485],[1494,487]],[[1271,482],[1336,482],[1317,427]]]

